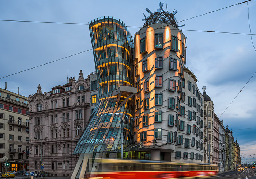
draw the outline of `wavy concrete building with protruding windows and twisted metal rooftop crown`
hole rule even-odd
[[[134,141],[151,160],[202,162],[203,96],[172,13],[150,12],[135,35]],[[154,144],[154,138],[157,143]]]

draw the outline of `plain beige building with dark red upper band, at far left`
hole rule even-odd
[[[8,170],[29,170],[28,110],[27,97],[0,88],[0,164],[8,157]]]

